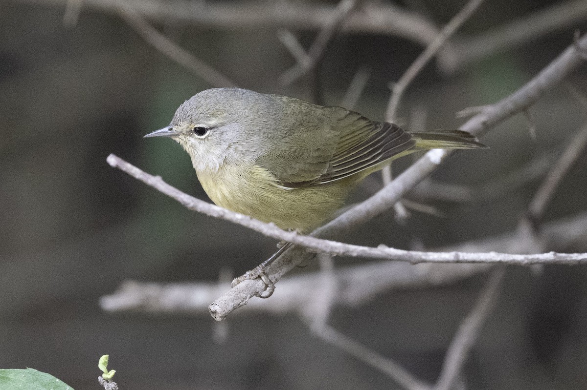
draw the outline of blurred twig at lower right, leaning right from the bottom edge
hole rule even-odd
[[[475,344],[475,341],[477,341],[485,319],[487,319],[487,316],[495,306],[498,288],[501,285],[503,276],[503,267],[499,267],[491,273],[475,307],[473,307],[473,310],[471,310],[458,327],[457,334],[450,343],[446,356],[444,357],[443,368],[436,386],[434,386],[434,390],[450,390],[456,384],[463,370],[467,355]]]

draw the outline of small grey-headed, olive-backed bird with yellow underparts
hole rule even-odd
[[[165,136],[190,155],[218,206],[303,234],[332,218],[366,176],[417,150],[485,148],[464,131],[407,132],[342,107],[211,88],[177,109]]]

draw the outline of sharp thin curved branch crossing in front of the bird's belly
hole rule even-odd
[[[183,206],[190,210],[209,215],[210,217],[221,218],[248,227],[258,231],[267,237],[276,238],[277,240],[291,242],[292,244],[301,245],[302,247],[312,249],[315,252],[322,252],[330,255],[365,257],[374,259],[389,259],[396,261],[407,261],[411,264],[421,262],[442,262],[442,263],[507,263],[507,264],[578,264],[587,261],[587,253],[583,254],[560,254],[548,252],[545,254],[517,255],[501,254],[496,252],[488,253],[468,253],[468,252],[421,252],[406,251],[403,249],[389,248],[379,245],[377,248],[362,247],[360,245],[345,244],[324,240],[322,238],[301,235],[295,231],[285,231],[272,223],[263,223],[247,215],[235,213],[214,204],[207,203],[193,196],[185,194],[175,187],[165,183],[161,177],[151,176],[143,172],[136,166],[124,161],[123,159],[110,155],[107,162],[129,175],[141,180],[154,189],[161,191],[167,196],[177,200]],[[352,209],[354,210],[354,209]],[[351,210],[351,211],[352,211]],[[350,211],[348,211],[350,212]],[[344,215],[344,214],[343,214]]]

